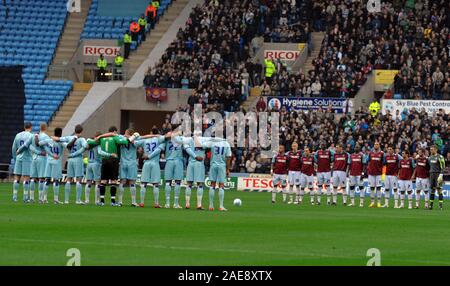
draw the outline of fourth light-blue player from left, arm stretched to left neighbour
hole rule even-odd
[[[69,150],[69,156],[67,160],[67,182],[64,187],[64,203],[69,203],[70,197],[70,184],[76,182],[76,201],[77,205],[83,205],[84,202],[81,201],[81,179],[84,175],[83,170],[83,152],[87,148],[86,139],[81,137],[81,132],[83,132],[83,127],[78,124],[75,126],[75,136],[65,136],[61,138],[54,138],[55,141],[62,143],[68,143],[67,149]]]

